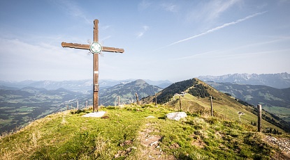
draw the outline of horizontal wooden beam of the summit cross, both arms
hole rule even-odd
[[[78,44],[78,43],[61,42],[61,46],[62,47],[76,48],[76,49],[87,49],[87,50],[89,50],[89,45],[82,45],[82,44]],[[114,47],[103,47],[102,51],[124,53],[124,49],[119,49],[119,48],[114,48]]]

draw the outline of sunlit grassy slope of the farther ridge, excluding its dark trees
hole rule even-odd
[[[257,122],[258,118],[253,113],[247,111],[247,106],[242,106],[236,102],[235,99],[231,99],[222,93],[215,93],[215,90],[211,90],[210,94],[216,97],[216,99],[212,100],[215,115],[218,115],[221,118],[226,118],[226,120],[230,119],[236,122],[241,121],[243,124],[249,125],[249,127],[256,129],[256,127],[250,126],[250,124],[251,122]],[[177,97],[175,97],[175,99],[176,98]],[[186,94],[184,97],[181,97],[181,101],[182,111],[210,114],[210,99],[208,99],[208,97],[198,98],[193,95]],[[180,110],[179,100],[175,102],[172,101],[166,105],[171,107],[174,111]],[[245,113],[245,115],[240,115],[240,120],[238,112]],[[266,120],[262,120],[262,124],[262,129],[266,130],[266,128],[271,127],[273,129],[283,131],[279,127],[272,125],[270,122],[266,122]]]

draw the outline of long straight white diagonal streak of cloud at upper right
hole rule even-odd
[[[266,12],[263,12],[263,13],[266,13]],[[198,34],[198,35],[194,35],[194,36],[191,36],[191,37],[189,37],[189,38],[185,38],[185,39],[183,39],[183,40],[178,40],[177,42],[173,42],[173,43],[171,43],[170,45],[167,45],[166,47],[170,47],[170,46],[172,46],[172,45],[176,45],[177,43],[180,43],[180,42],[185,42],[185,41],[187,41],[187,40],[191,40],[191,39],[194,39],[194,38],[198,38],[198,37],[200,37],[200,36],[202,36],[202,35],[206,35],[206,34],[208,34],[208,33],[212,33],[212,32],[214,32],[214,31],[218,31],[219,29],[223,29],[223,28],[226,27],[226,26],[231,26],[231,25],[234,25],[234,24],[238,24],[238,23],[243,22],[243,21],[245,21],[245,20],[247,20],[247,19],[250,19],[250,18],[252,18],[252,17],[256,17],[257,15],[262,15],[263,13],[255,13],[254,15],[249,15],[249,16],[247,16],[247,17],[245,17],[245,18],[238,19],[237,21],[230,22],[230,23],[226,23],[226,24],[222,24],[222,26],[217,26],[217,27],[215,27],[214,29],[210,29],[210,30],[205,31],[205,32],[203,32],[203,33],[200,33],[200,34]],[[165,48],[165,47],[163,47],[163,48]]]

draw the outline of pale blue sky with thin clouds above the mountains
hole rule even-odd
[[[290,72],[290,1],[0,2],[0,80],[92,79],[94,19],[99,79],[182,81],[202,75]]]

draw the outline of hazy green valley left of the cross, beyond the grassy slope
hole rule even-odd
[[[76,109],[77,102],[83,108],[86,101],[90,101],[89,95],[64,88],[0,90],[0,131],[16,130],[46,115]]]

